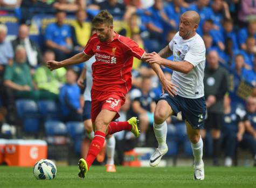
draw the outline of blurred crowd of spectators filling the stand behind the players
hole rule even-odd
[[[212,156],[213,164],[219,165],[218,157],[224,147],[225,165],[230,166],[237,148],[248,148],[256,165],[255,0],[0,0],[0,15],[14,13],[19,23],[17,36],[12,40],[8,39],[9,28],[5,23],[0,24],[2,130],[8,124],[16,128],[21,125],[24,133],[37,133],[42,122],[49,119],[81,121],[84,90],[78,87],[77,79],[84,65],[51,72],[46,62],[60,61],[82,51],[91,36],[90,20],[103,9],[112,13],[119,34],[132,38],[147,52],[158,52],[171,41],[183,12],[199,13],[197,33],[206,46],[205,99],[208,114],[211,114],[211,119],[206,120],[206,130],[202,130],[205,156]],[[38,14],[56,19],[46,28],[40,28],[42,40],[34,41],[30,39],[30,29],[34,15]],[[67,23],[67,17],[72,17],[73,22]],[[163,68],[163,71],[171,79],[172,70]],[[245,82],[251,89],[244,99],[230,94],[233,85],[239,82]],[[134,59],[133,88],[127,96],[127,105],[121,108],[120,118],[123,121],[139,117],[141,135],[134,146],[155,147],[155,138],[150,132],[153,131],[155,101],[161,93],[153,69],[146,62]],[[32,100],[38,107],[40,101],[53,102],[58,114],[43,117],[38,112],[39,115],[32,118],[21,116],[17,101],[23,99]],[[31,121],[26,121],[28,119]],[[36,124],[35,119],[39,126],[31,128]],[[185,143],[184,131],[181,115],[168,120],[170,144]],[[124,138],[118,137],[133,139],[126,134]],[[176,152],[170,151],[169,155],[176,155]]]

